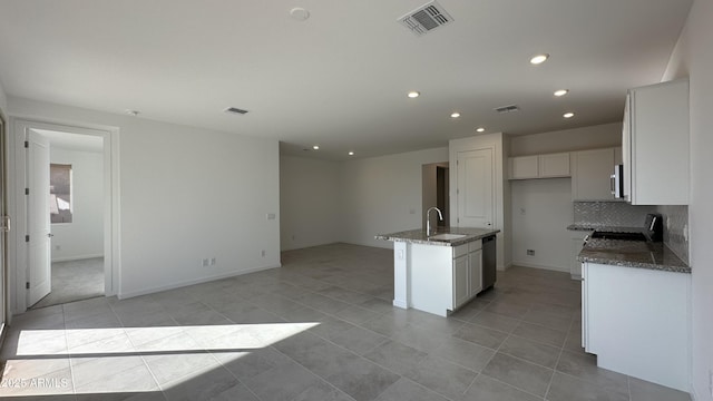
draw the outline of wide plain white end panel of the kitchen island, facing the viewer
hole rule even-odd
[[[411,244],[410,305],[447,316],[452,307],[453,251],[450,246]]]

